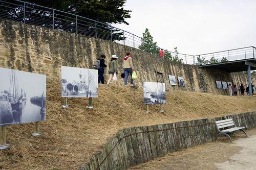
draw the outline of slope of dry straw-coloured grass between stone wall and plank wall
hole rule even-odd
[[[77,169],[85,164],[119,129],[216,117],[256,110],[256,98],[229,97],[185,91],[167,92],[165,113],[150,106],[146,114],[142,89],[99,85],[93,110],[88,99],[70,99],[61,109],[60,81],[47,80],[47,120],[42,135],[32,137],[33,124],[7,128],[10,148],[1,151],[2,169]]]

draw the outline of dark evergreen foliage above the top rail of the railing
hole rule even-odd
[[[26,2],[66,11],[104,23],[125,23],[130,18],[130,10],[125,10],[126,0],[26,0]]]

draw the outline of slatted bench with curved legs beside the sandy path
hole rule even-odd
[[[245,137],[247,137],[244,127],[237,127],[236,125],[234,125],[234,121],[232,118],[215,121],[215,125],[217,131],[219,132],[216,136],[216,139],[220,135],[225,135],[229,138],[230,142],[232,142],[230,135],[232,135],[235,131],[242,131],[245,133]]]

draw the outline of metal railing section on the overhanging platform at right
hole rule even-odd
[[[195,58],[197,60],[196,64],[205,65],[205,64],[214,64],[214,63],[221,63],[221,62],[227,62],[227,61],[252,59],[252,58],[255,58],[255,54],[256,54],[256,48],[254,46],[248,46],[248,47],[236,48],[236,49],[226,50],[221,52],[201,54],[201,55],[195,56]],[[198,57],[200,57],[200,59],[204,59],[203,60],[204,62],[198,63],[198,59],[197,59]]]

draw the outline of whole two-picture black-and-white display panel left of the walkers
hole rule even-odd
[[[62,98],[98,98],[98,71],[61,66]]]

